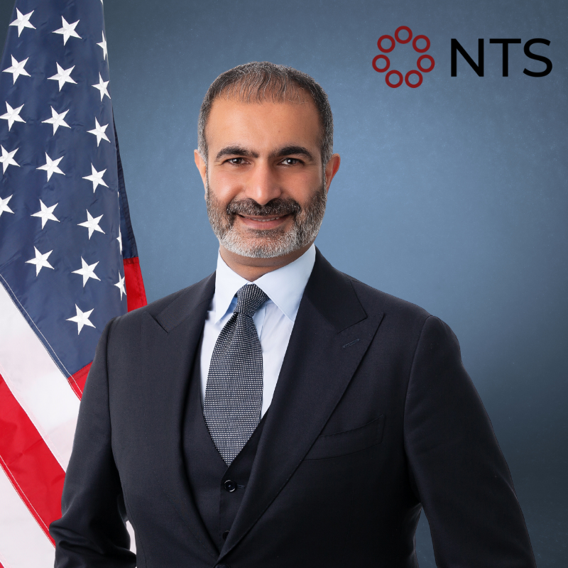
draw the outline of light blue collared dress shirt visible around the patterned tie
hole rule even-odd
[[[258,288],[261,288],[270,298],[253,316],[258,339],[261,342],[263,359],[262,415],[271,405],[297,310],[300,307],[300,300],[302,300],[314,263],[315,245],[312,244],[310,249],[307,249],[294,262],[269,272],[254,281]],[[207,312],[201,346],[202,405],[215,343],[226,322],[233,315],[237,291],[246,284],[250,284],[249,280],[245,280],[232,271],[219,253],[215,275],[215,293]]]

